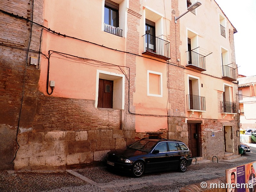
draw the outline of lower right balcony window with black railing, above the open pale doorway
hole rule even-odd
[[[236,103],[233,102],[233,88],[224,84],[224,92],[222,93],[223,101],[220,102],[221,113],[236,113]]]

